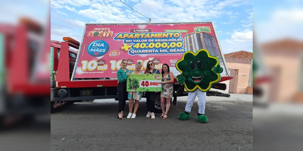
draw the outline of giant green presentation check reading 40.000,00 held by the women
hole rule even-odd
[[[127,78],[127,92],[161,92],[161,74],[130,74]]]

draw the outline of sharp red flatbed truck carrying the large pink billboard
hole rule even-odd
[[[51,46],[51,108],[74,102],[95,99],[118,100],[116,71],[121,60],[128,60],[128,69],[133,70],[137,61],[146,69],[148,60],[153,60],[155,69],[164,63],[174,73],[175,92],[181,87],[176,81],[179,74],[175,63],[185,51],[207,49],[217,56],[223,67],[220,82],[232,79],[229,76],[215,27],[212,22],[195,23],[146,23],[146,24],[85,24],[82,43],[64,37],[60,45],[60,59],[57,58],[58,45]],[[78,49],[75,65],[71,64],[70,47]],[[71,74],[72,71],[72,74]],[[226,84],[216,83],[213,89],[225,90]],[[229,94],[211,90],[207,96],[230,97]],[[178,94],[178,95],[177,95]],[[188,92],[174,93],[173,104],[177,97],[187,96]],[[143,94],[143,97],[145,95]],[[161,112],[160,93],[151,96],[155,109]]]

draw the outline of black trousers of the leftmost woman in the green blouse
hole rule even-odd
[[[125,82],[119,82],[118,83],[118,112],[120,113],[121,111],[124,110],[125,108],[125,102],[127,99],[127,94],[126,92],[126,81]]]

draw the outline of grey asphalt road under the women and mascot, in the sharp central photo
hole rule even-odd
[[[146,118],[142,101],[135,119],[117,119],[117,101],[77,103],[51,114],[52,151],[238,151],[252,150],[251,101],[220,99],[207,101],[209,122],[196,119],[197,103],[191,119],[178,120],[184,111],[184,99],[172,106],[168,118]],[[249,99],[250,100],[250,99]],[[102,102],[102,100],[99,102]]]

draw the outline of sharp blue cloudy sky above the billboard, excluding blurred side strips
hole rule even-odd
[[[84,23],[145,23],[147,20],[119,0],[92,1],[94,3],[89,0],[51,0],[51,39],[62,40],[62,37],[70,36],[81,41]],[[154,23],[213,21],[223,53],[252,52],[252,0],[124,2]]]

